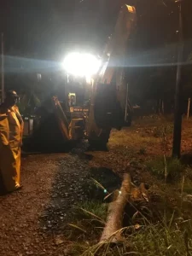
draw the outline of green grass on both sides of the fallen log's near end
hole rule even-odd
[[[110,241],[98,243],[104,219],[106,218],[107,206],[94,202],[85,202],[79,207],[84,207],[84,209],[77,208],[79,209],[78,212],[80,211],[77,213],[80,214],[81,225],[79,226],[79,222],[78,224],[71,224],[71,228],[76,230],[76,237],[81,236],[81,240],[73,243],[71,255],[188,256],[192,253],[192,222],[190,219],[183,218],[182,207],[180,208],[180,217],[177,217],[172,212],[171,215],[166,214],[157,222],[143,218],[143,224],[125,227],[123,229],[125,240],[116,245],[111,245]],[[166,212],[166,207],[164,210]],[[96,216],[96,214],[98,215]],[[95,236],[93,236],[91,230]],[[95,237],[94,240],[93,237]]]

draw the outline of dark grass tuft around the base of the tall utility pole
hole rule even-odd
[[[150,160],[147,163],[147,168],[156,177],[167,178],[167,181],[177,180],[185,170],[185,166],[181,164],[180,160],[172,158],[166,160],[162,157]]]

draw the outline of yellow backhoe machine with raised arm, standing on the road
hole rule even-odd
[[[124,125],[131,125],[132,108],[128,99],[125,70],[129,58],[129,39],[135,31],[136,23],[135,8],[123,6],[113,35],[103,51],[100,70],[91,80],[90,102],[77,105],[73,91],[67,92],[65,106],[56,96],[53,97],[49,116],[41,120],[38,129],[28,140],[28,146],[46,148],[45,145],[49,144],[49,148],[53,145],[61,148],[64,143],[84,137],[93,147],[103,146],[108,143],[112,128],[121,129]],[[55,127],[59,131],[54,132]]]

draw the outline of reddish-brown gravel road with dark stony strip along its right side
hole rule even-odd
[[[60,255],[69,212],[86,199],[88,170],[87,160],[71,154],[23,159],[23,189],[0,197],[1,255]]]

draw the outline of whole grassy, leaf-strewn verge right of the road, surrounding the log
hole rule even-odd
[[[183,148],[189,152],[191,142],[191,120],[183,121]],[[186,142],[186,143],[185,143]],[[149,185],[148,218],[134,219],[125,226],[125,240],[111,245],[99,243],[107,216],[108,204],[103,201],[87,201],[75,210],[71,240],[74,256],[189,256],[192,255],[192,156],[187,159],[172,159],[172,123],[170,120],[151,118],[138,120],[131,129],[112,131],[110,151],[104,163],[114,172],[122,172],[126,164],[134,179]],[[93,153],[96,154],[96,153]],[[112,156],[110,156],[112,154]],[[100,161],[102,155],[100,154]],[[117,160],[118,159],[118,160]],[[187,162],[186,162],[187,161]],[[102,161],[101,161],[102,162]],[[108,177],[95,176],[101,186],[108,187]],[[119,171],[118,171],[119,170]],[[102,173],[106,173],[103,170]],[[93,181],[93,180],[92,180]],[[96,184],[95,181],[95,184]],[[91,190],[100,189],[93,183]],[[111,186],[113,188],[113,186]],[[101,189],[103,193],[103,189]],[[112,192],[112,191],[110,191]],[[94,192],[91,192],[94,195]],[[102,194],[104,197],[104,195]],[[133,224],[134,223],[134,224]]]

